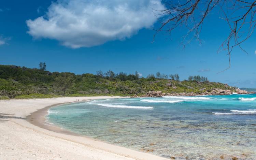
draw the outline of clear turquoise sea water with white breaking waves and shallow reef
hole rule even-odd
[[[256,158],[256,94],[93,100],[48,112],[63,129],[162,157]]]

